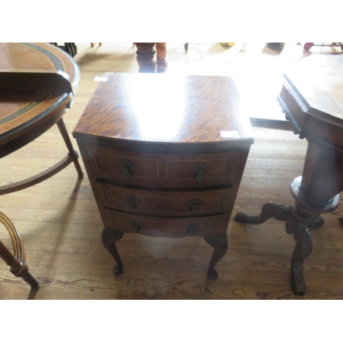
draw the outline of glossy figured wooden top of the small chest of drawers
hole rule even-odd
[[[235,80],[223,76],[107,73],[74,136],[155,143],[252,143]]]

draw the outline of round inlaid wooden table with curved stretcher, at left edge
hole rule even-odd
[[[55,123],[69,152],[40,174],[1,186],[0,196],[36,185],[71,162],[78,176],[83,176],[62,119],[71,107],[79,80],[78,65],[58,47],[48,43],[0,44],[0,158],[34,141]]]

